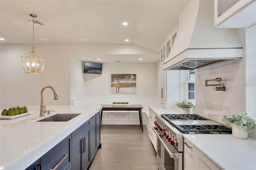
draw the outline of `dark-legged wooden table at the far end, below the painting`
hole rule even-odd
[[[143,132],[143,125],[142,125],[142,105],[130,105],[130,106],[112,106],[112,105],[102,105],[101,109],[101,119],[100,124],[102,122],[102,113],[103,111],[138,111],[140,117],[140,126]]]

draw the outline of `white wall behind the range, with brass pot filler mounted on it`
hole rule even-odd
[[[220,123],[223,115],[247,112],[256,119],[256,26],[237,29],[243,58],[196,70],[196,111]],[[222,78],[226,91],[204,87],[205,79]],[[256,130],[249,133],[256,137]]]

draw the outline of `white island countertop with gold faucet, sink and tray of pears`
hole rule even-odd
[[[21,170],[38,160],[56,144],[71,134],[102,109],[102,106],[46,106],[56,113],[82,113],[67,122],[36,122],[39,106],[27,106],[34,111],[16,119],[0,119],[0,169]],[[36,120],[34,120],[36,119]]]

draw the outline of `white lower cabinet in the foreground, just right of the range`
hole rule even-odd
[[[205,156],[196,146],[184,138],[184,170],[220,170],[216,164]]]

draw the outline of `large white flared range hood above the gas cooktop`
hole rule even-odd
[[[214,0],[191,0],[179,16],[164,69],[197,69],[242,58],[235,28],[214,26]]]

